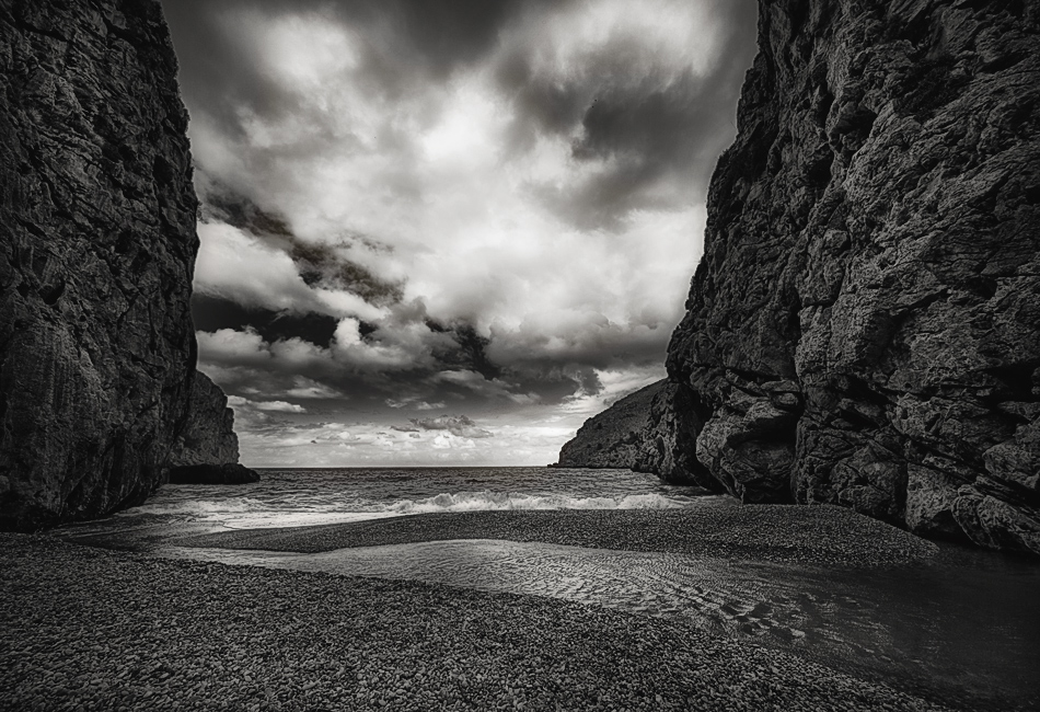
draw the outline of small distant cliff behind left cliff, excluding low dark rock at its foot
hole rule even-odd
[[[228,397],[208,376],[195,371],[187,423],[166,460],[166,467],[229,464],[239,461],[239,436]]]

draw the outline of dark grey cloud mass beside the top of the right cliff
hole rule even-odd
[[[579,161],[612,160],[609,170],[570,186],[538,193],[581,228],[614,227],[635,208],[668,207],[683,195],[661,192],[662,180],[703,191],[715,159],[736,128],[730,112],[740,77],[754,53],[755,4],[710,3],[718,43],[715,61],[677,67],[657,48],[623,37],[604,44],[586,64],[558,73],[538,71],[522,47],[504,56],[496,77],[518,112],[516,147],[538,131],[569,136]],[[687,193],[689,194],[689,193]]]

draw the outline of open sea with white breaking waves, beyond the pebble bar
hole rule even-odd
[[[114,519],[146,516],[220,528],[298,527],[432,512],[659,509],[731,503],[629,470],[331,468],[259,470],[235,486],[164,485]]]

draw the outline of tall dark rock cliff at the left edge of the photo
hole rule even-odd
[[[0,1],[0,527],[140,502],[185,420],[198,239],[158,2]]]

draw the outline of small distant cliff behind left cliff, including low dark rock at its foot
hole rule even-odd
[[[195,371],[187,422],[174,444],[167,480],[173,484],[241,484],[259,475],[239,462],[239,436],[228,397],[208,376]]]

